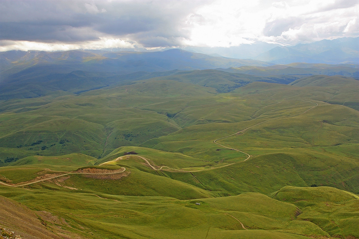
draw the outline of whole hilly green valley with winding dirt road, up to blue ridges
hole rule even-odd
[[[1,227],[24,238],[359,238],[357,65],[16,56],[2,69]],[[148,68],[133,70],[140,59]]]

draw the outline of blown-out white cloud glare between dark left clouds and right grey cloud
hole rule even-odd
[[[186,29],[190,37],[185,43],[228,47],[248,43],[246,38],[256,38],[265,23],[263,19],[253,17],[258,1],[242,4],[242,1],[221,0],[198,9],[195,15],[200,16],[200,21],[193,15],[187,18]]]

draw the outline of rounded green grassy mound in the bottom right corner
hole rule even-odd
[[[290,202],[302,210],[297,219],[311,221],[330,235],[359,237],[359,197],[329,187],[284,187],[271,194],[279,201]],[[316,210],[313,210],[313,209]]]

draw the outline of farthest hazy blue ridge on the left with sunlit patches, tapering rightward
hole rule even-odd
[[[214,57],[181,49],[157,52],[8,51],[0,53],[0,62],[1,74],[5,78],[14,72],[32,71],[34,68],[46,71],[50,66],[52,72],[59,73],[74,70],[131,73],[272,65],[258,60]]]

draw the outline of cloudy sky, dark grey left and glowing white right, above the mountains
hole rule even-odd
[[[295,45],[358,37],[358,0],[0,0],[0,51]]]

